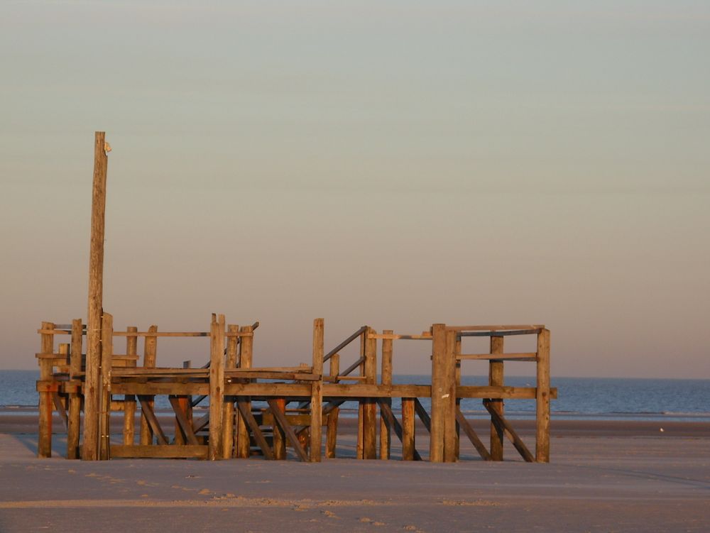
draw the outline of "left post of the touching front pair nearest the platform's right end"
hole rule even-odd
[[[429,440],[429,460],[444,461],[444,419],[446,417],[446,326],[432,325],[432,424]]]

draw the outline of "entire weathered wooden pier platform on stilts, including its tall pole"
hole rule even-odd
[[[324,320],[315,319],[310,363],[268,368],[254,364],[258,322],[226,324],[223,314],[213,314],[209,331],[163,331],[157,326],[146,331],[136,326],[114,329],[113,317],[102,307],[106,153],[104,133],[97,132],[87,324],[81,319],[70,324],[43,322],[38,329],[38,456],[52,454],[57,412],[65,425],[70,459],[218,460],[255,455],[285,459],[290,450],[300,461],[319,462],[323,456],[338,455],[340,407],[357,402],[356,457],[360,459],[391,458],[392,443],[398,439],[405,461],[453,462],[460,456],[460,439],[467,438],[486,461],[503,460],[505,439],[525,461],[550,461],[550,400],[557,397],[557,390],[550,387],[550,331],[540,324],[433,324],[420,334],[378,333],[362,326],[325,352]],[[490,349],[462,353],[462,340],[471,336],[490,339]],[[535,336],[535,351],[506,353],[508,336]],[[190,361],[182,368],[158,366],[160,337],[209,338],[204,364],[200,368],[192,368]],[[64,338],[69,342],[61,342]],[[142,361],[139,339],[143,339]],[[431,345],[430,385],[393,383],[395,341]],[[354,361],[341,361],[351,344],[359,344],[357,356]],[[461,365],[481,360],[488,361],[488,384],[462,385]],[[535,363],[535,387],[505,385],[506,361]],[[165,417],[158,416],[156,397],[167,397],[172,408],[170,427]],[[399,416],[393,398],[400,399]],[[424,398],[430,402],[422,402]],[[490,414],[487,447],[461,411],[465,398],[481,400]],[[506,418],[504,402],[520,399],[535,400],[534,452]],[[427,453],[421,446],[417,449],[417,418],[429,436]],[[116,432],[119,419],[121,429]]]

